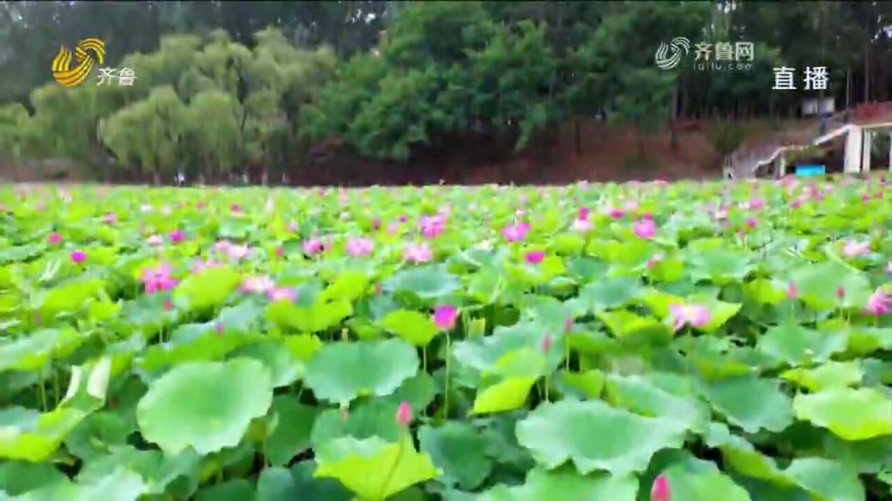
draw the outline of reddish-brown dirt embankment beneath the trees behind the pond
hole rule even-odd
[[[676,124],[675,147],[669,131],[640,136],[632,127],[589,121],[553,127],[521,152],[513,152],[505,141],[479,138],[455,141],[435,151],[427,149],[406,163],[360,160],[342,150],[290,169],[290,183],[433,184],[442,179],[465,185],[562,184],[582,179],[604,182],[720,177],[722,157],[707,138],[709,127],[706,121]],[[64,160],[27,166],[0,161],[0,180],[7,182],[89,178],[85,169]]]

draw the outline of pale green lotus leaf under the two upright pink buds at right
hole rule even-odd
[[[775,325],[756,344],[756,349],[771,357],[797,366],[826,361],[848,344],[845,331],[821,333],[798,324]]]

